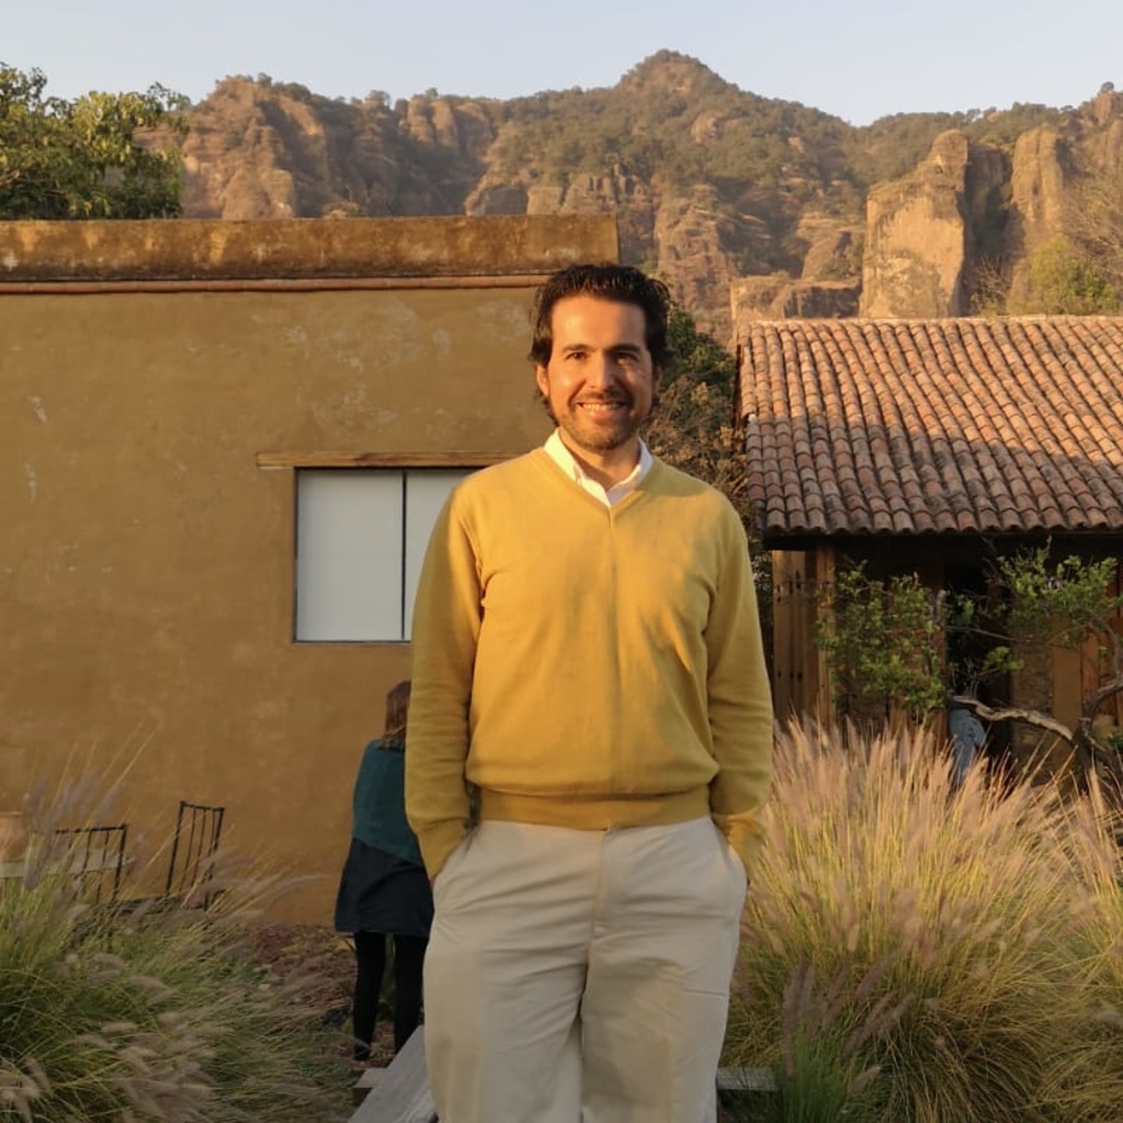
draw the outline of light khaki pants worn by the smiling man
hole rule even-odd
[[[433,887],[441,1123],[709,1123],[745,904],[709,819],[484,822]]]

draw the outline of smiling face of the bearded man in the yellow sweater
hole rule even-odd
[[[535,373],[566,444],[603,455],[633,442],[655,395],[643,310],[566,296],[554,305],[550,326],[550,359]]]

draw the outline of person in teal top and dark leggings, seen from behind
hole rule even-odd
[[[385,732],[363,754],[351,801],[350,850],[336,897],[336,931],[355,938],[355,1060],[371,1057],[386,937],[394,938],[394,1052],[421,1016],[421,969],[432,924],[432,893],[405,821],[404,758],[409,679],[386,695]]]

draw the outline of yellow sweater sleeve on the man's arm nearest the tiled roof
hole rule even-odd
[[[760,810],[772,780],[773,704],[748,545],[736,514],[706,624],[706,696],[718,775],[710,809],[746,871],[760,852]]]

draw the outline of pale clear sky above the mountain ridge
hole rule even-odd
[[[268,74],[327,97],[513,98],[614,85],[667,48],[727,82],[867,125],[1076,106],[1123,90],[1123,0],[0,0],[0,62],[47,93],[200,101]]]

